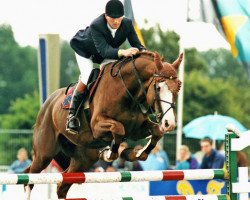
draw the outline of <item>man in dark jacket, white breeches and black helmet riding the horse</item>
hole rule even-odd
[[[132,47],[120,49],[126,39]],[[103,64],[123,56],[132,56],[145,47],[137,37],[132,20],[124,17],[124,7],[119,0],[108,1],[105,13],[96,18],[85,30],[79,30],[71,39],[70,45],[76,52],[80,77],[70,104],[66,130],[76,134],[79,131],[76,111],[82,99],[87,98],[86,85],[93,63]]]

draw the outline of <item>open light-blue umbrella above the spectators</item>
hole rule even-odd
[[[224,140],[227,133],[226,125],[233,124],[240,132],[247,129],[236,119],[223,115],[205,115],[198,117],[183,127],[186,137],[202,139],[210,137],[213,140]]]

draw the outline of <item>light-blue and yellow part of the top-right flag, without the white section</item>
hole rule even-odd
[[[213,0],[231,52],[241,61],[250,79],[250,1]]]

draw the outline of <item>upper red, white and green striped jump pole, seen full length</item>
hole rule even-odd
[[[88,173],[0,174],[0,184],[113,183],[225,179],[222,169]]]

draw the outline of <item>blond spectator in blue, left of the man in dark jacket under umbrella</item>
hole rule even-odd
[[[191,155],[188,146],[182,145],[178,149],[178,158],[176,162],[176,169],[197,169],[198,161]]]

